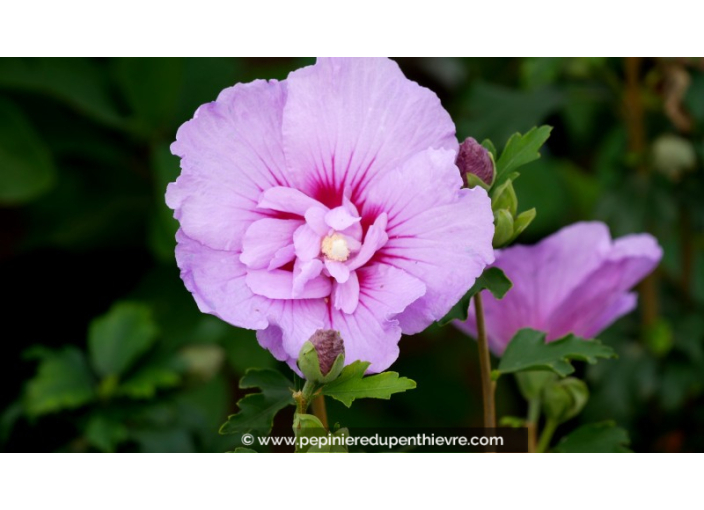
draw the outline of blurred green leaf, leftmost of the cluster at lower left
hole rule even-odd
[[[81,351],[43,351],[37,374],[27,383],[25,406],[33,416],[74,409],[95,397],[94,380]]]

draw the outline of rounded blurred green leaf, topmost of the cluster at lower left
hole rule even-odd
[[[114,305],[93,320],[88,330],[88,350],[96,371],[103,377],[123,374],[157,337],[151,310],[140,303]]]

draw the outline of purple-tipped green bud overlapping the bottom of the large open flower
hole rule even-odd
[[[345,344],[338,331],[319,329],[303,344],[298,368],[312,382],[328,383],[336,379],[345,364]]]

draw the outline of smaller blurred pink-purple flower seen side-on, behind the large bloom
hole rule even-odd
[[[568,333],[593,338],[632,311],[629,290],[660,262],[662,249],[649,234],[611,240],[599,222],[575,223],[534,246],[496,250],[493,266],[513,287],[502,300],[484,291],[482,302],[489,345],[501,354],[521,328],[555,340]],[[455,322],[476,336],[474,306],[466,322]]]

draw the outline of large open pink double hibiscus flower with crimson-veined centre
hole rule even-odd
[[[201,311],[295,367],[319,329],[386,369],[493,261],[491,204],[461,189],[455,126],[388,59],[320,59],[238,84],[172,145],[166,201]]]

